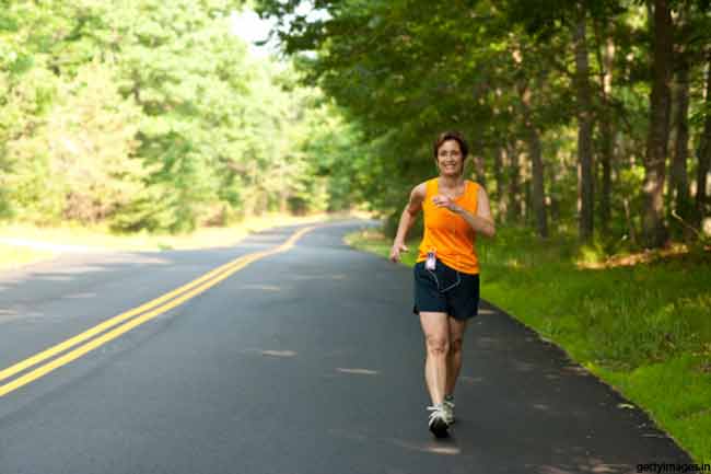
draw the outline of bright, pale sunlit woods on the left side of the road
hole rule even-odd
[[[357,129],[249,54],[238,8],[1,1],[0,218],[182,232],[347,206],[350,181],[326,170]]]

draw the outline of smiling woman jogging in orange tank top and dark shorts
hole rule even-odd
[[[489,198],[483,187],[464,178],[468,147],[456,131],[434,142],[439,177],[420,183],[397,228],[391,261],[407,252],[405,240],[418,212],[424,212],[424,235],[415,265],[415,313],[424,333],[424,380],[432,406],[429,428],[438,438],[454,423],[454,388],[462,368],[462,337],[479,305],[476,236],[493,236]]]

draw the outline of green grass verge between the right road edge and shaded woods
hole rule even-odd
[[[384,256],[391,245],[373,231],[347,242]],[[711,252],[591,265],[592,252],[500,232],[479,243],[482,297],[645,409],[698,463],[711,463]]]

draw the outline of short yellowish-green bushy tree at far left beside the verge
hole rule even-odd
[[[108,65],[94,62],[69,83],[55,80],[51,106],[35,115],[32,135],[8,141],[9,197],[24,211],[34,209],[32,220],[105,219],[142,189],[145,172],[132,157],[139,109],[118,93],[113,77]],[[21,109],[23,102],[38,102],[16,91]]]

